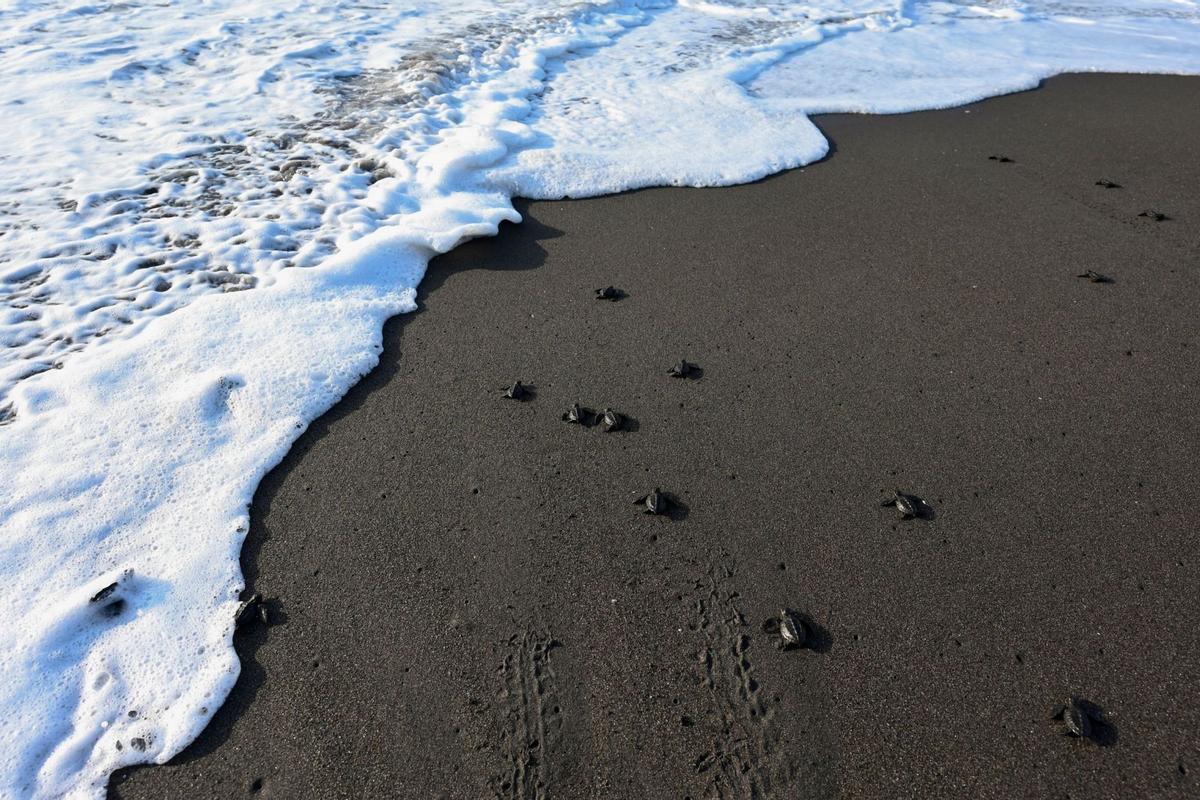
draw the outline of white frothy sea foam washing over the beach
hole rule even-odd
[[[514,194],[742,182],[824,155],[812,113],[1088,70],[1200,73],[1198,4],[5,2],[0,798],[204,727],[258,481]]]

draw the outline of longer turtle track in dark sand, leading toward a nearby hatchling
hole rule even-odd
[[[797,766],[780,741],[750,661],[750,626],[730,588],[728,566],[710,571],[707,595],[696,601],[701,682],[712,706],[713,746],[696,759],[707,800],[768,800],[793,796]],[[697,582],[697,589],[704,584]],[[787,793],[787,794],[785,794]]]

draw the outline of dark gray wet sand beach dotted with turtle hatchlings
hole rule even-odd
[[[434,261],[258,492],[277,624],[112,795],[1196,796],[1200,80],[818,122],[808,169],[523,205]]]

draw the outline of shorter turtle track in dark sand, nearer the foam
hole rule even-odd
[[[551,654],[559,643],[546,632],[527,631],[509,639],[500,675],[500,706],[505,710],[504,768],[496,796],[505,800],[545,800],[550,758],[563,728],[563,710],[554,687]]]

